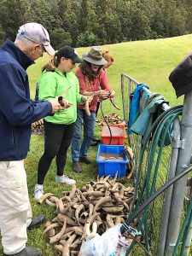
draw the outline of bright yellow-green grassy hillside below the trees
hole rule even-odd
[[[121,105],[120,74],[125,73],[136,79],[139,83],[148,84],[150,90],[160,92],[170,104],[177,105],[183,102],[178,100],[172,84],[168,80],[169,74],[179,61],[191,51],[192,34],[177,38],[165,38],[147,41],[128,42],[121,44],[108,44],[114,56],[113,65],[108,69],[108,81],[116,91],[116,102]],[[88,52],[88,48],[77,49],[79,56]],[[35,84],[40,76],[41,67],[49,59],[48,55],[38,59],[36,65],[28,68],[32,96]],[[111,105],[105,102],[105,109],[111,110]]]

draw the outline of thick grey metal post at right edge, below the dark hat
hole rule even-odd
[[[189,166],[192,149],[192,91],[184,97],[183,115],[181,122],[181,147],[178,152],[176,174],[183,172],[183,169]],[[172,255],[177,242],[180,229],[183,200],[187,176],[181,178],[175,183],[172,190],[172,205],[170,209],[167,233],[165,255]]]

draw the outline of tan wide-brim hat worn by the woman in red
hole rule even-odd
[[[84,61],[90,62],[92,64],[96,64],[99,66],[103,66],[108,63],[108,61],[106,61],[102,57],[102,49],[98,46],[92,46],[88,53],[82,55],[82,59]]]

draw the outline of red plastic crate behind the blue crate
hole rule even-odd
[[[102,144],[108,145],[124,145],[125,140],[125,125],[109,125],[112,131],[112,138],[110,136],[110,131],[108,130],[108,125],[102,128]]]

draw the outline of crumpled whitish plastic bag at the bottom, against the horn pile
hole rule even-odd
[[[114,256],[120,236],[121,224],[108,229],[102,236],[96,234],[91,239],[84,241],[80,251],[83,256]]]

